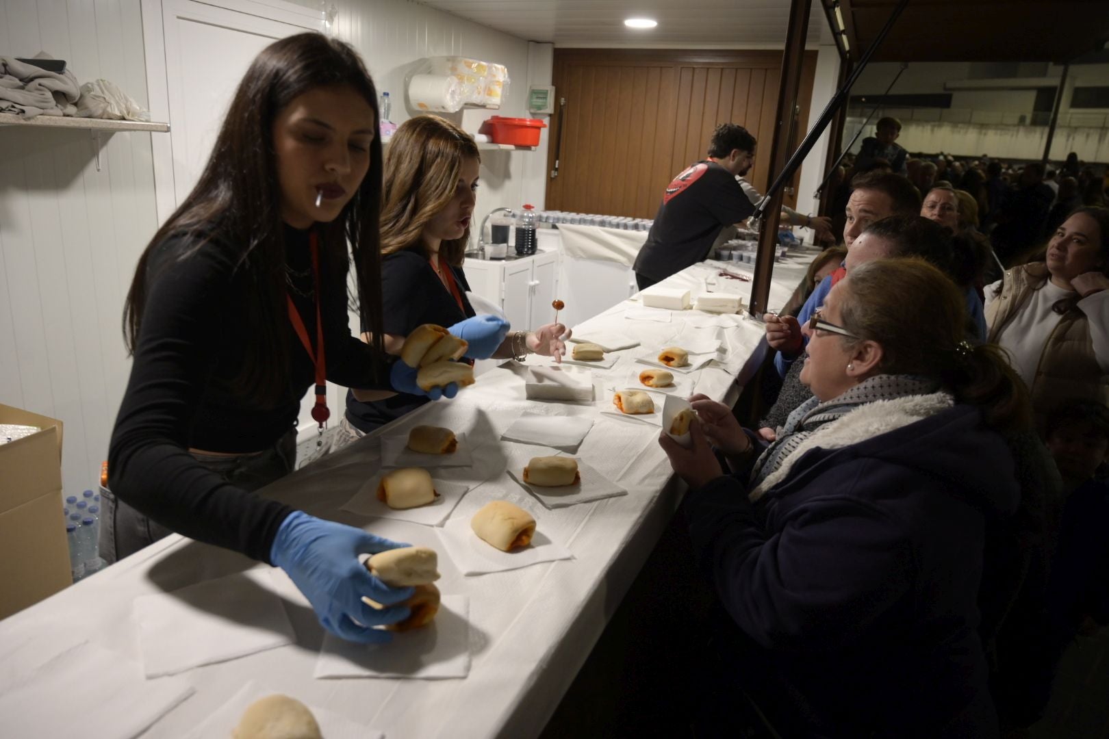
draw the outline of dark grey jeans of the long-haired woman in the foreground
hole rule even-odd
[[[293,471],[296,461],[296,431],[289,430],[273,448],[250,454],[202,454],[193,452],[200,464],[228,483],[254,492]],[[108,564],[134,554],[173,532],[115,497],[101,486],[100,556]]]

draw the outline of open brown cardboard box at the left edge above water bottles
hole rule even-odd
[[[38,433],[0,444],[0,618],[73,583],[62,520],[62,422],[0,404]]]

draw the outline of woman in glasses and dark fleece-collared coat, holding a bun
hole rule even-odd
[[[814,397],[777,441],[703,396],[692,449],[660,440],[744,645],[732,677],[784,736],[998,733],[977,598],[1030,411],[965,311],[926,261],[859,265],[808,324]]]

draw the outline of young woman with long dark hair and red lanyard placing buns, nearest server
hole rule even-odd
[[[362,602],[410,595],[357,558],[398,545],[253,491],[292,471],[305,390],[321,422],[328,380],[420,392],[380,338],[347,326],[353,264],[362,322],[383,336],[376,100],[358,55],[318,33],[251,64],[200,181],[135,269],[101,541],[114,561],[177,532],[277,565],[327,629],[359,642],[407,615]]]

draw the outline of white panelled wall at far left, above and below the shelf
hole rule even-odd
[[[0,0],[0,53],[146,100],[139,0]],[[0,402],[60,418],[67,492],[99,478],[130,362],[123,299],[154,233],[149,133],[0,129]]]

